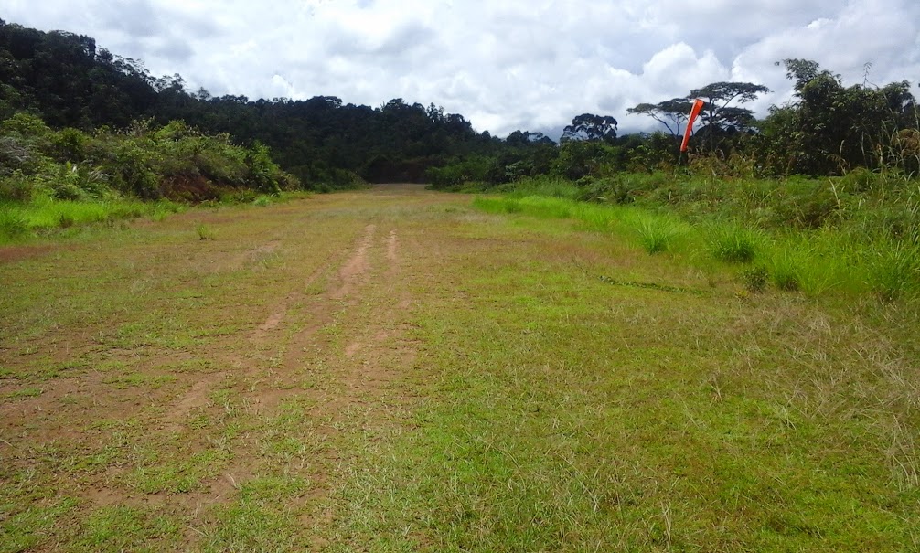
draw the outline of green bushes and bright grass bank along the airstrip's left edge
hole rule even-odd
[[[17,113],[0,121],[0,242],[35,231],[150,215],[190,202],[269,202],[298,190],[265,146],[244,148],[182,121],[125,132],[53,131]]]

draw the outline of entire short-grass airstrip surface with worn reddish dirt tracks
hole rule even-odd
[[[0,264],[0,551],[917,547],[920,314],[863,246],[719,260],[673,213],[506,200],[224,206],[220,240]]]

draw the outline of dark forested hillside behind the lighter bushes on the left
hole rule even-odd
[[[498,147],[462,116],[392,99],[380,108],[333,97],[249,100],[190,92],[182,77],[155,77],[144,64],[97,48],[92,38],[0,22],[0,119],[17,111],[50,127],[127,129],[133,121],[185,121],[239,144],[267,144],[274,160],[308,187],[424,179],[452,156]]]

